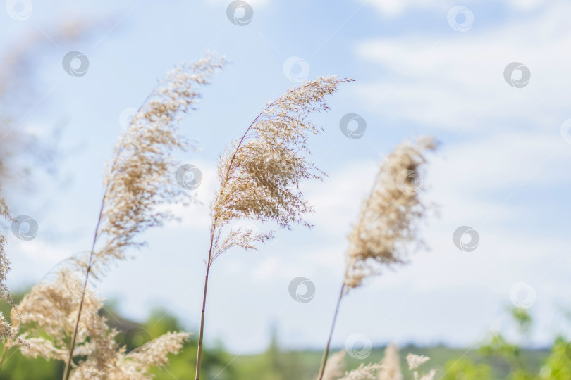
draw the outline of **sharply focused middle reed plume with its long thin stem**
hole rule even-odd
[[[294,224],[311,227],[304,219],[312,207],[299,189],[305,179],[322,179],[309,161],[309,134],[322,131],[308,116],[329,110],[326,96],[338,84],[351,82],[338,77],[319,77],[288,89],[271,101],[254,119],[242,137],[230,144],[218,164],[219,189],[211,202],[210,248],[206,261],[204,296],[197,353],[196,379],[199,380],[204,335],[208,274],[212,262],[233,246],[255,249],[256,243],[273,238],[272,232],[257,234],[252,229],[226,231],[232,220],[273,221],[283,229]]]

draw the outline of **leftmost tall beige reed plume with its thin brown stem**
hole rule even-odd
[[[149,227],[160,226],[171,215],[161,206],[180,201],[185,194],[172,180],[176,169],[173,152],[187,144],[178,125],[183,113],[194,109],[199,87],[225,61],[208,55],[192,65],[180,65],[160,82],[130,121],[116,144],[114,157],[104,179],[104,194],[92,248],[87,257],[75,260],[85,273],[75,330],[63,375],[68,380],[90,275],[101,273],[112,260],[125,258],[125,250],[139,247],[135,236]]]

